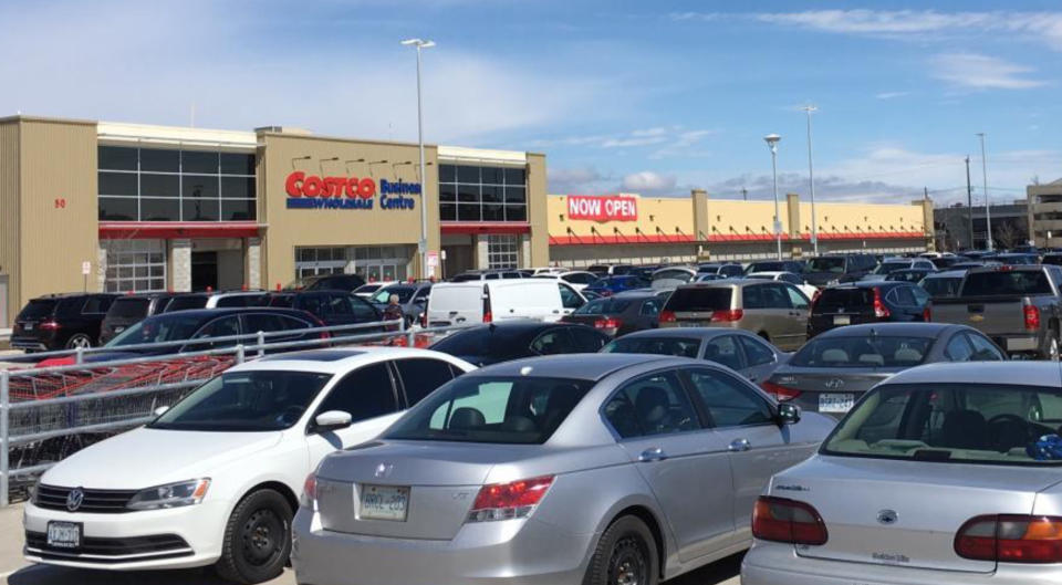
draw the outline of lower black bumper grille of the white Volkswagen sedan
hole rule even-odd
[[[28,553],[43,558],[76,560],[88,563],[121,561],[119,557],[131,555],[168,558],[192,554],[188,543],[176,534],[155,534],[127,539],[83,536],[81,546],[71,550],[49,546],[48,537],[43,532],[27,531],[25,549]],[[129,558],[129,561],[134,561],[134,558]]]

